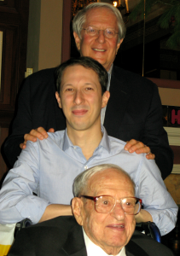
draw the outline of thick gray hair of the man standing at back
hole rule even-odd
[[[125,38],[126,29],[122,15],[120,14],[119,10],[110,3],[90,3],[86,7],[84,7],[84,9],[78,11],[77,15],[75,15],[73,18],[73,32],[76,32],[78,34],[78,38],[81,38],[81,31],[86,20],[86,13],[90,9],[95,8],[107,8],[111,12],[113,12],[113,15],[115,15],[117,18],[117,23],[119,27],[119,42],[120,39]]]

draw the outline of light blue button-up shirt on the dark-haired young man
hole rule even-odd
[[[89,160],[71,143],[67,131],[49,133],[47,139],[37,143],[27,142],[0,191],[0,223],[16,223],[23,218],[38,223],[49,204],[70,204],[73,179],[78,173],[107,163],[130,174],[136,197],[142,199],[161,235],[170,232],[177,220],[177,205],[154,160],[147,160],[145,154],[130,154],[124,149],[125,142],[108,137],[103,127],[102,132],[102,141]]]

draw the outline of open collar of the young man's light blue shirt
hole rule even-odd
[[[107,151],[110,153],[111,148],[110,148],[109,138],[107,136],[107,131],[104,128],[103,125],[102,125],[102,133],[103,133],[102,141],[101,141],[101,143],[99,144],[99,146],[97,148],[103,147],[103,148],[107,149]],[[63,146],[62,146],[63,151],[66,151],[67,148],[76,146],[76,145],[73,145],[73,143],[69,139],[69,137],[67,135],[67,129],[65,130],[63,139],[64,139],[64,143],[63,143]]]

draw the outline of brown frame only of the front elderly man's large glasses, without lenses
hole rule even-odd
[[[94,201],[94,202],[95,202],[95,210],[96,210],[96,201],[97,201],[97,198],[98,198],[98,197],[101,197],[101,196],[111,196],[111,197],[113,197],[112,195],[98,195],[98,196],[79,195],[78,198],[84,197],[84,198],[86,198],[86,199],[90,199],[90,200]],[[134,199],[136,199],[136,201],[138,201],[138,202],[140,203],[139,212],[141,211],[141,209],[142,209],[142,199],[137,198],[137,197],[134,197],[134,196],[127,196],[127,197],[124,197],[124,198],[120,198],[120,201],[122,201],[122,200],[125,199],[125,198],[134,198]],[[113,197],[113,199],[115,200],[115,203],[114,203],[113,208],[111,209],[110,212],[113,211],[114,207],[116,206],[116,202],[117,202],[117,199],[116,199],[116,198]],[[121,207],[122,207],[122,205],[121,205]],[[123,207],[122,207],[122,209],[123,209]],[[123,209],[123,211],[124,211],[124,209]],[[98,211],[96,210],[96,212],[98,212]],[[110,213],[110,212],[99,212],[99,213]],[[125,212],[125,211],[124,211],[124,212]],[[129,213],[126,213],[126,212],[125,212],[125,214],[127,214],[127,215],[136,215],[136,214],[138,214],[139,212],[136,212],[135,214],[129,214]]]

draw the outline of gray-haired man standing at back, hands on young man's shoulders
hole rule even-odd
[[[113,65],[125,38],[125,24],[119,10],[108,3],[89,4],[75,16],[73,35],[80,55],[99,61],[108,72],[107,90],[111,98],[107,108],[102,109],[101,117],[107,134],[130,141],[125,145],[130,153],[146,153],[148,160],[155,157],[165,179],[171,173],[173,154],[162,126],[158,88],[150,80]],[[34,142],[36,137],[48,137],[46,131],[66,128],[65,117],[55,101],[55,68],[27,78],[18,102],[12,133],[4,144],[11,166],[20,148],[26,148],[26,140]],[[39,126],[46,131],[35,130]]]

